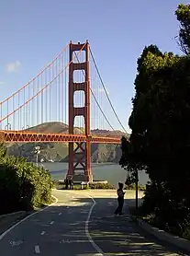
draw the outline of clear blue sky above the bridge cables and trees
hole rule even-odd
[[[88,40],[109,97],[129,131],[137,59],[146,45],[180,53],[179,0],[0,1],[0,100],[22,87],[69,42]],[[119,125],[116,127],[119,128]]]

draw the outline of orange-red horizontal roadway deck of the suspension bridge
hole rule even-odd
[[[26,131],[0,130],[0,142],[86,142],[120,144],[120,137],[104,137],[85,134],[52,134]]]

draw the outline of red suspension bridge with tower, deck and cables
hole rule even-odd
[[[2,143],[69,143],[69,179],[77,173],[85,181],[93,179],[92,143],[120,144],[110,119],[114,117],[126,133],[88,41],[70,41],[37,76],[0,102],[0,111]],[[46,122],[68,123],[68,131],[41,132]],[[107,127],[109,135],[98,134]]]

